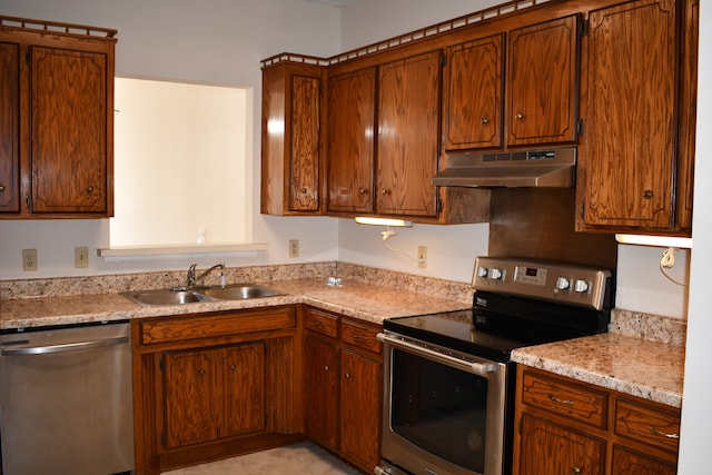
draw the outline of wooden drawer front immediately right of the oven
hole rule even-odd
[[[607,395],[583,385],[524,372],[522,402],[594,427],[605,428]]]

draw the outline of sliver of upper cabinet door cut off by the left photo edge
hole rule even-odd
[[[0,42],[0,212],[20,210],[19,55],[19,44]]]

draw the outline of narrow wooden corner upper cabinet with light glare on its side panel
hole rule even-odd
[[[263,69],[261,212],[320,209],[322,73],[293,62]]]

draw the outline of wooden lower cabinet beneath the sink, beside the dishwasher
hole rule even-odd
[[[136,474],[303,441],[295,306],[132,321]]]

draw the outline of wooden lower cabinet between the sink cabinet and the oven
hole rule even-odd
[[[305,307],[306,433],[365,473],[380,461],[379,325]]]

